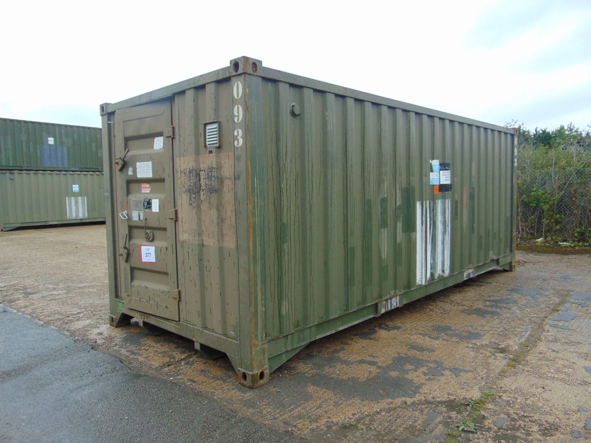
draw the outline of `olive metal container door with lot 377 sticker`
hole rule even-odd
[[[126,307],[178,321],[170,101],[115,113],[119,285]]]

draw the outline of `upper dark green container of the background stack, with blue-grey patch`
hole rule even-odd
[[[0,169],[102,171],[100,128],[0,119]]]

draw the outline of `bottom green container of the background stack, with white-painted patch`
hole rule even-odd
[[[0,171],[0,230],[102,222],[102,172]]]

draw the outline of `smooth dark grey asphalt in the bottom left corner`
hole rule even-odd
[[[297,441],[16,313],[0,349],[0,441]]]

